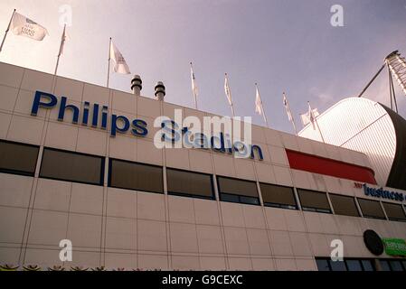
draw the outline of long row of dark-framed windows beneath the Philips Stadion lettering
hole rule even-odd
[[[33,176],[39,147],[0,141],[0,172]],[[68,182],[83,182],[103,185],[105,158],[90,154],[79,154],[44,148],[40,177]],[[260,205],[257,182],[228,177],[217,177],[220,200]],[[167,191],[172,195],[214,199],[211,174],[166,169]],[[164,193],[164,174],[160,166],[109,160],[109,187]],[[260,191],[265,206],[297,210],[295,192],[284,187],[260,182]],[[297,189],[302,210],[359,217],[356,201],[366,218],[385,219],[385,213],[392,220],[406,220],[401,205],[377,200],[365,200],[326,192]]]

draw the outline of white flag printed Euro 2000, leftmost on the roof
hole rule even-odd
[[[11,30],[15,35],[25,36],[36,41],[42,41],[48,35],[45,27],[16,12],[11,23]]]

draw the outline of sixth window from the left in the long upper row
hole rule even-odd
[[[261,182],[260,192],[265,206],[297,210],[293,188]]]

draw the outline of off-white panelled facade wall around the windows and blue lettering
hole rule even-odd
[[[33,117],[36,90],[67,97],[78,107],[97,102],[108,105],[110,115],[142,118],[149,134],[112,138],[106,130],[58,121],[56,108]],[[0,173],[0,264],[316,270],[315,256],[330,256],[333,239],[344,241],[345,256],[372,258],[364,247],[365,229],[406,238],[405,222],[224,202],[216,187],[216,200],[168,195],[165,185],[164,194],[110,188],[108,165],[103,186],[39,177],[43,147],[52,147],[160,165],[164,180],[171,167],[212,174],[214,183],[221,175],[376,200],[354,181],[290,169],[285,149],[371,167],[365,154],[261,126],[252,126],[252,141],[260,145],[263,161],[197,149],[159,150],[153,144],[156,117],[173,117],[174,108],[184,116],[210,114],[5,63],[0,95],[0,139],[40,146],[34,177]],[[72,262],[59,259],[61,239],[72,241]]]

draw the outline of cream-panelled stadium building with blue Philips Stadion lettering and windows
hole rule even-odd
[[[406,270],[404,173],[386,187],[366,151],[262,126],[251,158],[159,149],[156,117],[212,115],[166,103],[162,83],[156,98],[139,96],[140,79],[132,89],[0,63],[0,265]]]

